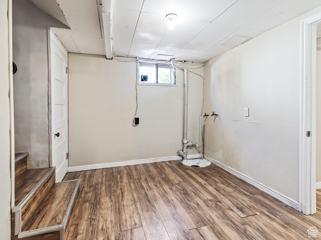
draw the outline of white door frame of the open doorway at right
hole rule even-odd
[[[300,126],[299,126],[299,211],[316,210],[316,62],[317,25],[321,12],[301,20]],[[307,131],[311,136],[307,137]]]

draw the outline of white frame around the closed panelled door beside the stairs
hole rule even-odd
[[[50,167],[53,166],[53,148],[52,148],[52,140],[53,140],[53,136],[54,136],[54,130],[53,130],[53,121],[52,121],[52,52],[51,52],[51,40],[54,40],[55,43],[57,45],[60,45],[59,47],[62,47],[66,50],[67,52],[67,63],[66,63],[66,66],[68,68],[68,51],[67,49],[65,48],[65,46],[60,42],[60,40],[58,39],[58,37],[56,36],[56,34],[53,32],[53,30],[51,29],[50,26],[48,26],[48,76],[49,76],[49,84],[48,84],[48,112],[49,112],[49,165]],[[68,74],[67,74],[67,86],[68,86]],[[67,149],[66,149],[66,152],[68,153],[68,89],[67,89],[67,115],[66,115],[66,118],[67,118],[67,124],[66,124],[66,132],[67,132]],[[67,172],[68,172],[68,164],[69,164],[69,159],[66,159],[66,167],[67,167]]]

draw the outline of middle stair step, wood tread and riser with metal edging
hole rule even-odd
[[[15,206],[12,208],[12,235],[18,235],[25,222],[55,184],[56,167],[29,169],[15,177]]]

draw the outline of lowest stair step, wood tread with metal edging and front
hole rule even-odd
[[[50,239],[64,240],[70,228],[69,216],[79,197],[79,185],[79,179],[56,183],[34,214],[26,220],[22,232],[14,237],[38,239],[39,235],[51,234]]]

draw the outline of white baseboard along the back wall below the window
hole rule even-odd
[[[198,154],[196,155],[198,156]],[[181,159],[182,157],[180,156],[171,156],[171,157],[149,158],[149,159],[141,159],[141,160],[114,162],[114,163],[91,164],[91,165],[68,167],[68,172],[78,172],[78,171],[85,171],[85,170],[136,165],[136,164],[144,164],[144,163],[166,162],[166,161],[174,161],[174,160],[181,160]]]

